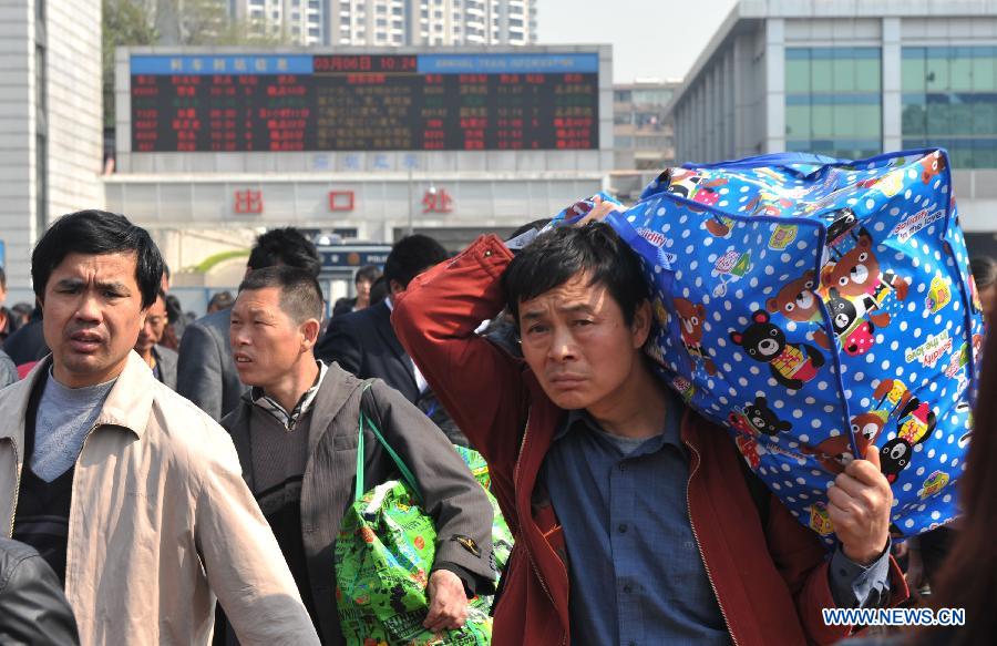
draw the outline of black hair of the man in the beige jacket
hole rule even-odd
[[[148,232],[125,216],[88,209],[63,215],[52,223],[31,253],[31,281],[39,303],[44,303],[52,271],[70,254],[135,254],[135,281],[142,293],[142,308],[156,301],[163,279],[163,256]]]

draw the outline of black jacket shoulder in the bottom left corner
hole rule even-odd
[[[0,537],[0,644],[79,644],[59,577],[23,543]]]

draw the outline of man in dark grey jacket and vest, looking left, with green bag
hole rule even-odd
[[[434,520],[424,625],[460,627],[467,599],[494,589],[489,501],[442,431],[401,393],[380,379],[363,381],[316,360],[321,312],[319,284],[301,269],[259,269],[239,287],[232,352],[239,378],[253,389],[222,425],[236,444],[243,476],[322,642],[343,644],[332,551],[352,502],[362,410],[413,473],[422,507]],[[367,491],[400,475],[373,432],[364,433]]]

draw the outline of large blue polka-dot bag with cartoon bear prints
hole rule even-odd
[[[801,523],[833,544],[826,489],[868,450],[894,536],[956,515],[983,319],[944,151],[674,168],[608,221],[652,287],[648,351]]]

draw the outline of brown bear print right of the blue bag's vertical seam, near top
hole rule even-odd
[[[873,254],[873,239],[868,232],[863,228],[857,236],[853,233],[852,237],[855,246],[821,270],[821,290],[836,289],[855,305],[857,318],[865,318],[868,312],[868,319],[876,327],[886,327],[890,315],[873,312],[883,306],[890,294],[896,293],[897,299],[906,299],[909,286],[893,271],[880,273],[880,262]]]

